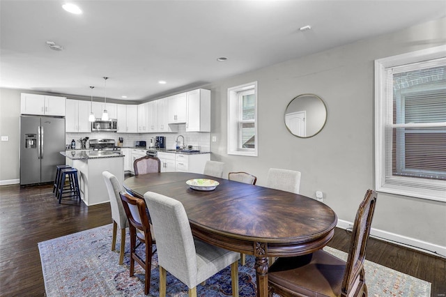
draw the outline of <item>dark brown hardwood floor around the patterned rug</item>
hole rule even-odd
[[[0,212],[0,296],[45,296],[38,243],[112,222],[109,204],[58,204],[52,185],[0,186]],[[329,245],[347,252],[349,242],[349,233],[336,229]],[[431,282],[432,297],[446,296],[445,259],[374,238],[367,259]]]

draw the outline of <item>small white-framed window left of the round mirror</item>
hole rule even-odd
[[[257,82],[228,89],[228,154],[257,155]]]

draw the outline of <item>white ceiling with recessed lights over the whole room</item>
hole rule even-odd
[[[0,1],[1,87],[147,101],[446,15],[444,0],[63,3]]]

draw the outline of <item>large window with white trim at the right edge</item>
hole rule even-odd
[[[376,190],[446,201],[446,47],[375,61]]]

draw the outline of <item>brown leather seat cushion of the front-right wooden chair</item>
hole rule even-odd
[[[346,262],[318,250],[279,258],[268,270],[268,283],[305,296],[339,296]]]

